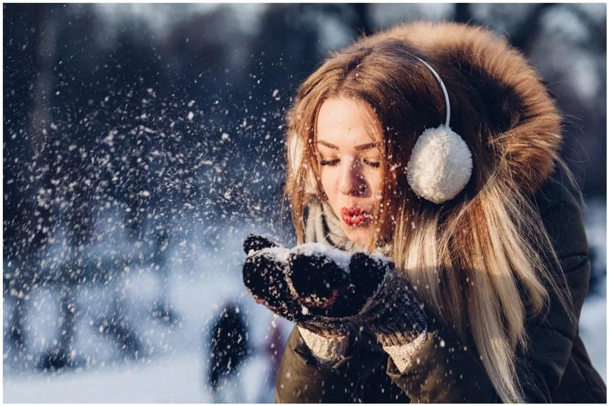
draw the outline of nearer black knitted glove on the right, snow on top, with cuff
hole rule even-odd
[[[390,259],[310,243],[288,262],[290,291],[309,314],[366,326],[384,347],[426,340],[425,313]]]

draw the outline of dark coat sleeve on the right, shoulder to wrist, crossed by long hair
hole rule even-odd
[[[579,314],[588,292],[590,261],[588,242],[576,200],[564,186],[549,181],[538,194],[538,207],[551,236],[572,296],[570,320],[567,309],[549,290],[547,310],[526,323],[530,350],[519,351],[518,376],[527,402],[552,402],[561,382],[574,339]],[[428,341],[404,371],[389,359],[387,374],[412,402],[501,402],[479,357],[466,349],[452,329],[432,320]]]

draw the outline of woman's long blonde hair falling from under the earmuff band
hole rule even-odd
[[[288,115],[286,143],[286,196],[298,243],[304,241],[303,212],[308,200],[323,198],[313,147],[317,112],[330,97],[357,97],[368,103],[383,130],[384,204],[377,208],[375,218],[377,228],[395,223],[393,261],[406,273],[426,308],[477,351],[501,399],[523,402],[516,350],[527,348],[525,321],[544,309],[547,289],[561,303],[570,303],[570,298],[565,279],[551,271],[560,265],[540,213],[530,201],[530,193],[547,173],[519,171],[515,164],[515,159],[535,164],[541,153],[535,150],[527,158],[515,143],[528,148],[518,131],[545,131],[547,136],[537,135],[546,137],[542,148],[549,167],[564,166],[555,145],[560,144],[560,117],[534,75],[529,78],[533,90],[545,96],[535,105],[527,104],[510,83],[492,75],[482,81],[481,75],[488,72],[464,72],[456,63],[423,54],[396,37],[364,38],[329,58],[298,90]],[[522,59],[500,45],[505,49],[499,51]],[[443,205],[418,198],[407,186],[406,164],[417,135],[442,124],[446,108],[435,78],[416,57],[434,66],[443,78],[452,106],[451,127],[465,139],[474,160],[468,185]],[[521,64],[527,66],[524,61]],[[479,87],[482,82],[487,88]],[[489,102],[488,86],[496,91],[495,101]],[[530,114],[526,120],[519,115],[523,103]],[[543,130],[535,125],[544,126]],[[378,242],[375,234],[368,248]]]

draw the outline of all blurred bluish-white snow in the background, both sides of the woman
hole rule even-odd
[[[599,250],[597,261],[606,269],[605,202],[589,203],[585,214],[591,246]],[[254,230],[249,230],[254,231]],[[261,231],[261,230],[256,230]],[[231,299],[239,303],[251,330],[252,340],[261,348],[270,332],[272,314],[253,303],[239,278],[244,258],[241,229],[220,241],[216,248],[199,247],[195,266],[198,273],[187,272],[179,256],[172,258],[174,272],[169,276],[169,298],[180,314],[181,323],[167,327],[152,320],[146,309],[158,297],[159,284],[150,273],[132,273],[117,282],[122,285],[125,307],[139,336],[150,349],[144,359],[125,362],[107,338],[90,325],[100,308],[108,306],[111,293],[120,287],[84,290],[79,298],[82,314],[77,325],[77,357],[87,360],[84,368],[63,373],[41,373],[33,362],[48,346],[56,325],[53,292],[37,292],[30,298],[28,354],[18,361],[4,347],[3,401],[17,403],[209,403],[272,402],[269,359],[256,352],[235,380],[227,384],[222,397],[214,399],[205,385],[210,323],[222,304]],[[594,366],[607,379],[607,289],[605,279],[599,292],[586,301],[580,328]],[[6,304],[6,302],[5,302]],[[4,306],[4,317],[7,309]],[[279,322],[284,338],[290,323]]]

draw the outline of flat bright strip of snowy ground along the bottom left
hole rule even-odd
[[[183,352],[149,365],[102,367],[83,373],[57,376],[4,377],[5,403],[212,403],[202,387],[200,352]],[[245,366],[240,399],[229,402],[271,402],[259,397],[266,369],[264,360],[253,359]]]

